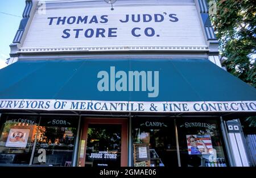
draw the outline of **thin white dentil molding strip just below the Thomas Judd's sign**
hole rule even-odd
[[[130,46],[130,47],[42,47],[19,48],[18,53],[94,52],[94,51],[209,51],[207,46]]]

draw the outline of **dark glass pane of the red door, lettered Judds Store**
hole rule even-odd
[[[89,124],[85,166],[121,165],[121,125]]]

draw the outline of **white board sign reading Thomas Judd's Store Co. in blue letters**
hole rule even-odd
[[[35,13],[22,48],[49,47],[154,50],[206,43],[195,5],[71,7]]]

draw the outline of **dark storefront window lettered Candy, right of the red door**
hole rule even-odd
[[[133,121],[134,166],[177,167],[173,119]]]

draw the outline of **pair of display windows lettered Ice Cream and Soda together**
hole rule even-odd
[[[71,166],[77,121],[75,117],[2,116],[0,164]]]

